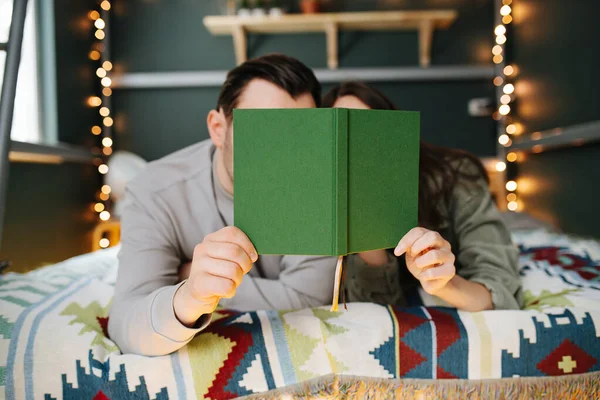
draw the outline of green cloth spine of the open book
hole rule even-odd
[[[334,108],[335,254],[348,253],[348,110]]]

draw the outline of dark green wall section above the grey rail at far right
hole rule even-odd
[[[515,2],[519,122],[535,132],[600,119],[600,2]]]

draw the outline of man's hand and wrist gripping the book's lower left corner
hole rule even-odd
[[[220,299],[235,295],[257,259],[254,245],[236,227],[207,235],[194,249],[188,280],[175,293],[177,318],[191,327],[200,316],[212,313]]]

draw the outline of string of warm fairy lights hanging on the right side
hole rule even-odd
[[[513,21],[513,0],[497,0],[498,12],[495,16],[495,44],[492,47],[493,62],[495,64],[494,86],[498,98],[498,109],[494,112],[494,119],[498,123],[498,156],[500,161],[496,163],[496,170],[506,174],[507,162],[514,163],[519,155],[514,151],[507,151],[512,144],[512,136],[517,135],[519,127],[514,122],[511,114],[511,105],[516,100],[514,79],[517,68],[507,64],[506,47],[508,41],[508,25]],[[506,162],[504,161],[506,160]],[[521,208],[517,199],[517,182],[509,180],[506,182],[506,207],[510,211],[519,211]]]

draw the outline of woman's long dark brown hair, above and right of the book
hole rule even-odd
[[[332,107],[342,96],[354,96],[374,110],[396,109],[383,93],[362,82],[345,82],[331,89],[323,98],[323,107]],[[469,152],[438,147],[423,141],[420,151],[419,224],[436,229],[447,218],[439,205],[450,203],[457,181],[487,181],[488,176],[481,161]]]

